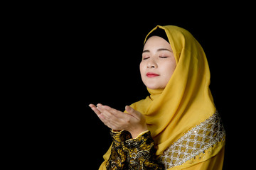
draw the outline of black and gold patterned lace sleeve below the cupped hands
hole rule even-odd
[[[156,159],[156,149],[151,133],[146,131],[137,138],[127,131],[111,132],[113,144],[107,170],[112,169],[164,169]]]

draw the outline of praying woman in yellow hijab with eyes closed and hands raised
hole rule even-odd
[[[193,35],[156,26],[146,36],[140,72],[150,96],[124,113],[90,104],[112,129],[100,169],[222,169],[225,130],[206,55]]]

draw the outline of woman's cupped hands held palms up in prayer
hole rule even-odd
[[[127,113],[117,111],[114,108],[110,108],[110,106],[103,106],[102,104],[97,104],[97,107],[93,104],[89,106],[102,120],[102,123],[112,130],[127,130],[133,138],[147,130],[144,115],[129,106],[125,107]]]

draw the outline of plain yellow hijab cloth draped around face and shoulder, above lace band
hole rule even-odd
[[[165,89],[147,89],[150,96],[131,107],[145,115],[156,155],[160,156],[186,132],[212,116],[216,109],[209,89],[210,70],[201,45],[183,28],[156,26],[151,32],[156,29],[165,31],[174,52],[176,69]],[[109,155],[110,149],[105,159]]]

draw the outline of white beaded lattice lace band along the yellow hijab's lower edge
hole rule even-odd
[[[161,162],[165,164],[166,169],[181,165],[224,140],[224,137],[225,130],[216,111],[210,118],[186,132],[166,149],[160,157]]]

